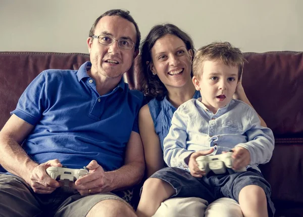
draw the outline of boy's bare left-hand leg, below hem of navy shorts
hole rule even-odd
[[[147,179],[143,184],[137,215],[139,217],[154,215],[160,204],[175,193],[176,190],[169,183],[157,178]]]

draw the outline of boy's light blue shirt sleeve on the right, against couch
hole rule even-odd
[[[260,119],[257,112],[250,108],[248,109],[248,120],[250,121],[250,128],[246,131],[248,142],[240,143],[235,147],[243,147],[249,151],[249,164],[264,164],[267,163],[274,150],[275,139],[273,132],[268,127],[260,125]]]

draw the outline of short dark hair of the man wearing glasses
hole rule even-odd
[[[132,18],[132,16],[129,14],[129,11],[127,10],[122,10],[122,9],[114,9],[114,10],[109,10],[107,12],[105,12],[104,14],[102,14],[101,16],[99,16],[95,22],[92,24],[90,30],[89,30],[89,37],[92,37],[94,35],[94,30],[96,28],[97,23],[99,22],[99,20],[105,16],[119,16],[122,17],[130,22],[132,22],[135,25],[136,28],[136,32],[137,32],[137,38],[136,38],[136,42],[135,42],[135,50],[139,49],[139,45],[140,45],[140,40],[141,40],[141,33],[139,31],[138,25],[135,22],[134,18]]]

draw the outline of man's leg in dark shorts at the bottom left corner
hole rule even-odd
[[[0,216],[32,217],[42,213],[34,194],[21,178],[0,174]]]

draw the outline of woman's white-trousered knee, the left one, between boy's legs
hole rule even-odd
[[[161,203],[153,217],[204,216],[208,202],[197,197],[179,197]]]

